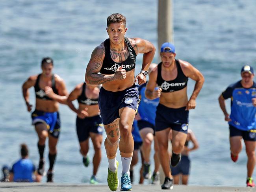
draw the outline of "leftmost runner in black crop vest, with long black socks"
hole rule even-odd
[[[32,113],[32,124],[35,126],[39,141],[37,144],[40,160],[37,169],[38,174],[44,174],[44,150],[45,140],[49,142],[49,164],[47,182],[52,182],[53,166],[57,155],[57,142],[60,133],[59,103],[67,104],[67,89],[63,79],[52,74],[53,60],[50,57],[43,58],[41,62],[42,73],[33,75],[22,85],[23,97],[28,111],[32,110],[29,102],[30,87],[35,88],[35,111]]]

